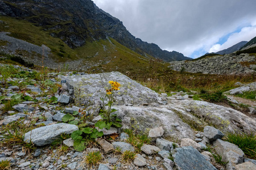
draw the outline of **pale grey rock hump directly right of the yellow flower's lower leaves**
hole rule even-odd
[[[152,128],[164,129],[164,137],[193,138],[194,131],[174,111],[167,108],[152,106],[127,107],[115,106],[118,118],[122,120],[122,128],[130,129],[132,126],[148,133]],[[176,124],[179,124],[176,126]]]

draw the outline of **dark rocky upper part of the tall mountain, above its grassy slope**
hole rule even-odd
[[[135,38],[120,20],[90,0],[0,0],[0,15],[27,20],[43,27],[49,35],[61,39],[72,49],[84,46],[86,42],[112,37],[143,56],[150,55],[167,62],[191,59]]]

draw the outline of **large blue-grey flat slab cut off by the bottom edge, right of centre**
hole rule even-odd
[[[176,168],[180,170],[217,170],[192,146],[176,148],[176,153],[173,157]]]

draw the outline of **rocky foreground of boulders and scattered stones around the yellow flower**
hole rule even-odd
[[[1,65],[0,71],[0,140],[5,144],[1,147],[0,160],[10,162],[11,169],[238,170],[256,167],[255,160],[246,158],[241,148],[222,141],[228,132],[255,133],[255,108],[247,116],[232,108],[192,100],[182,91],[171,96],[159,95],[118,72],[49,73],[42,79],[39,76],[42,73],[26,67]],[[10,72],[13,74],[6,77]],[[122,128],[102,129],[102,137],[93,145],[90,145],[92,138],[81,136],[86,141],[81,146],[86,147],[80,150],[76,147],[79,139],[74,136],[79,129],[96,130],[98,122],[102,122],[98,114],[102,106],[99,97],[105,95],[109,80],[121,84],[113,107]],[[251,83],[249,90],[255,90],[255,85]],[[10,107],[7,107],[8,101],[12,103]],[[8,142],[13,141],[4,135],[15,134],[15,129],[24,134],[23,144],[9,145]],[[130,129],[130,133],[129,130],[124,133],[125,129]],[[144,136],[137,136],[137,131]],[[142,139],[150,142],[138,141]],[[29,152],[27,147],[31,142],[36,148]],[[134,154],[129,162],[125,159],[127,152]],[[214,159],[217,155],[226,163],[217,162]],[[90,164],[88,159],[96,156],[100,159]]]

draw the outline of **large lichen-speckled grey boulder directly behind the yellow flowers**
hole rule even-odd
[[[100,97],[105,96],[110,80],[121,84],[120,90],[115,94],[117,105],[153,103],[160,100],[156,92],[119,72],[61,76],[60,78],[74,88],[74,95],[71,97],[75,98],[75,102],[85,105],[101,104]]]

